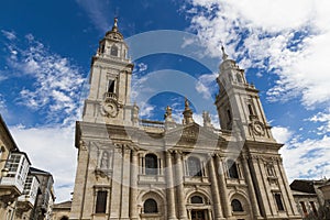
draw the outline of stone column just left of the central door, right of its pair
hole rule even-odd
[[[183,158],[179,152],[175,152],[175,168],[176,168],[176,187],[177,187],[177,207],[179,219],[188,219],[186,211],[185,190],[184,190],[184,172]]]

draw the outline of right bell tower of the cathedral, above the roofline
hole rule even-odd
[[[223,130],[240,129],[244,140],[275,142],[260,101],[258,90],[246,81],[244,69],[228,58],[222,50],[222,63],[217,82],[216,106]]]

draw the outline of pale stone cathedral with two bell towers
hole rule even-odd
[[[76,123],[78,166],[72,220],[301,219],[258,90],[222,47],[215,105],[183,121],[139,118],[133,63],[117,20],[91,59],[90,91]]]

